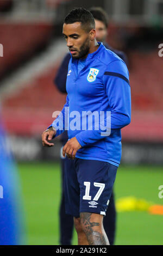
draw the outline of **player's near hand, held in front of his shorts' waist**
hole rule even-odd
[[[82,148],[82,146],[77,141],[76,137],[73,137],[67,141],[62,149],[63,156],[67,155],[68,158],[74,159],[76,157],[76,153],[78,149]]]

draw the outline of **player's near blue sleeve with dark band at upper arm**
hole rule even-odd
[[[114,129],[121,129],[130,123],[131,115],[131,95],[129,86],[129,75],[126,64],[121,60],[115,60],[110,63],[103,76],[103,84],[105,93],[108,97],[110,106],[110,117],[105,118],[108,125],[109,134]],[[87,144],[95,143],[99,139],[104,138],[102,129],[85,130],[76,135],[80,145],[84,147]]]

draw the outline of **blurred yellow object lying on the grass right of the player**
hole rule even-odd
[[[148,211],[149,207],[153,205],[145,199],[137,199],[136,197],[122,197],[116,200],[116,210],[123,211]]]

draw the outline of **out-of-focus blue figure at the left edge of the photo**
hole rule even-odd
[[[24,244],[20,182],[0,116],[0,245]]]

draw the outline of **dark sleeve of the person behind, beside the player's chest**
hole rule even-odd
[[[68,72],[68,63],[70,61],[71,55],[67,53],[65,58],[62,60],[61,66],[58,69],[57,75],[54,79],[54,84],[57,86],[58,90],[61,93],[66,92],[66,79],[67,79],[67,72]]]

